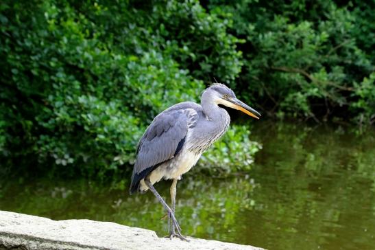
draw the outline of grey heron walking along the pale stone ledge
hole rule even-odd
[[[151,190],[169,218],[169,237],[186,240],[175,217],[176,187],[182,174],[197,163],[202,152],[219,139],[230,124],[228,112],[219,104],[261,116],[236,98],[224,84],[213,84],[203,93],[201,104],[181,102],[157,115],[141,137],[136,150],[130,194]],[[171,207],[154,188],[154,183],[171,179]]]

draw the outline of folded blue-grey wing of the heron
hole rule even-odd
[[[130,194],[161,163],[175,157],[184,146],[186,133],[198,120],[194,109],[167,110],[155,117],[138,143]]]

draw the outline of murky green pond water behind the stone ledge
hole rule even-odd
[[[266,249],[375,249],[375,131],[258,123],[254,168],[228,179],[178,183],[182,233]],[[169,182],[158,183],[169,197]],[[167,234],[151,193],[129,196],[80,181],[3,182],[0,209],[55,220],[88,218]]]

